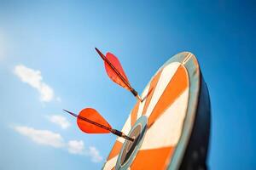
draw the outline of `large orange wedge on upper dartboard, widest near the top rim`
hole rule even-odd
[[[154,110],[148,118],[148,127],[150,127],[156,119],[164,112],[166,109],[172,105],[172,103],[181,95],[183,91],[188,88],[189,79],[187,72],[183,65],[177,68],[171,81],[166,86],[165,91],[161,95],[157,104],[154,106]]]

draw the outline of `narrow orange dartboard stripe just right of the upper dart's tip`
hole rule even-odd
[[[159,72],[157,73],[157,75],[155,75],[155,77],[153,78],[153,80],[150,82],[150,86],[149,86],[148,94],[147,94],[147,98],[146,98],[146,103],[145,103],[144,108],[143,108],[143,115],[145,115],[145,114],[146,114],[146,111],[148,110],[148,105],[149,105],[149,103],[150,103],[150,101],[151,101],[151,99],[152,99],[152,96],[153,96],[153,94],[154,94],[154,89],[155,89],[155,87],[156,87],[156,84],[157,84],[157,82],[158,82],[159,79],[160,79],[161,72],[162,72],[162,70],[159,71]]]

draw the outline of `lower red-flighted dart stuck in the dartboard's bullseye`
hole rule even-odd
[[[119,130],[113,129],[111,125],[95,109],[85,108],[79,112],[79,115],[71,111],[63,110],[72,116],[77,117],[77,124],[84,133],[113,133],[119,137],[131,140],[134,139],[126,136]]]

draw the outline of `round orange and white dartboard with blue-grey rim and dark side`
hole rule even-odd
[[[211,106],[195,55],[174,55],[131,110],[103,169],[207,169]]]

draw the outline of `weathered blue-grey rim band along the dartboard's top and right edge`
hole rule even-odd
[[[177,170],[180,167],[185,150],[189,144],[189,138],[195,122],[195,113],[198,105],[201,83],[200,67],[194,54],[189,52],[176,54],[172,59],[169,59],[167,63],[173,62],[176,59],[182,59],[179,55],[183,55],[183,60],[180,61],[185,66],[189,74],[189,104],[185,120],[183,122],[182,135],[177,143],[176,149],[174,150],[172,159],[169,162],[169,170]]]

